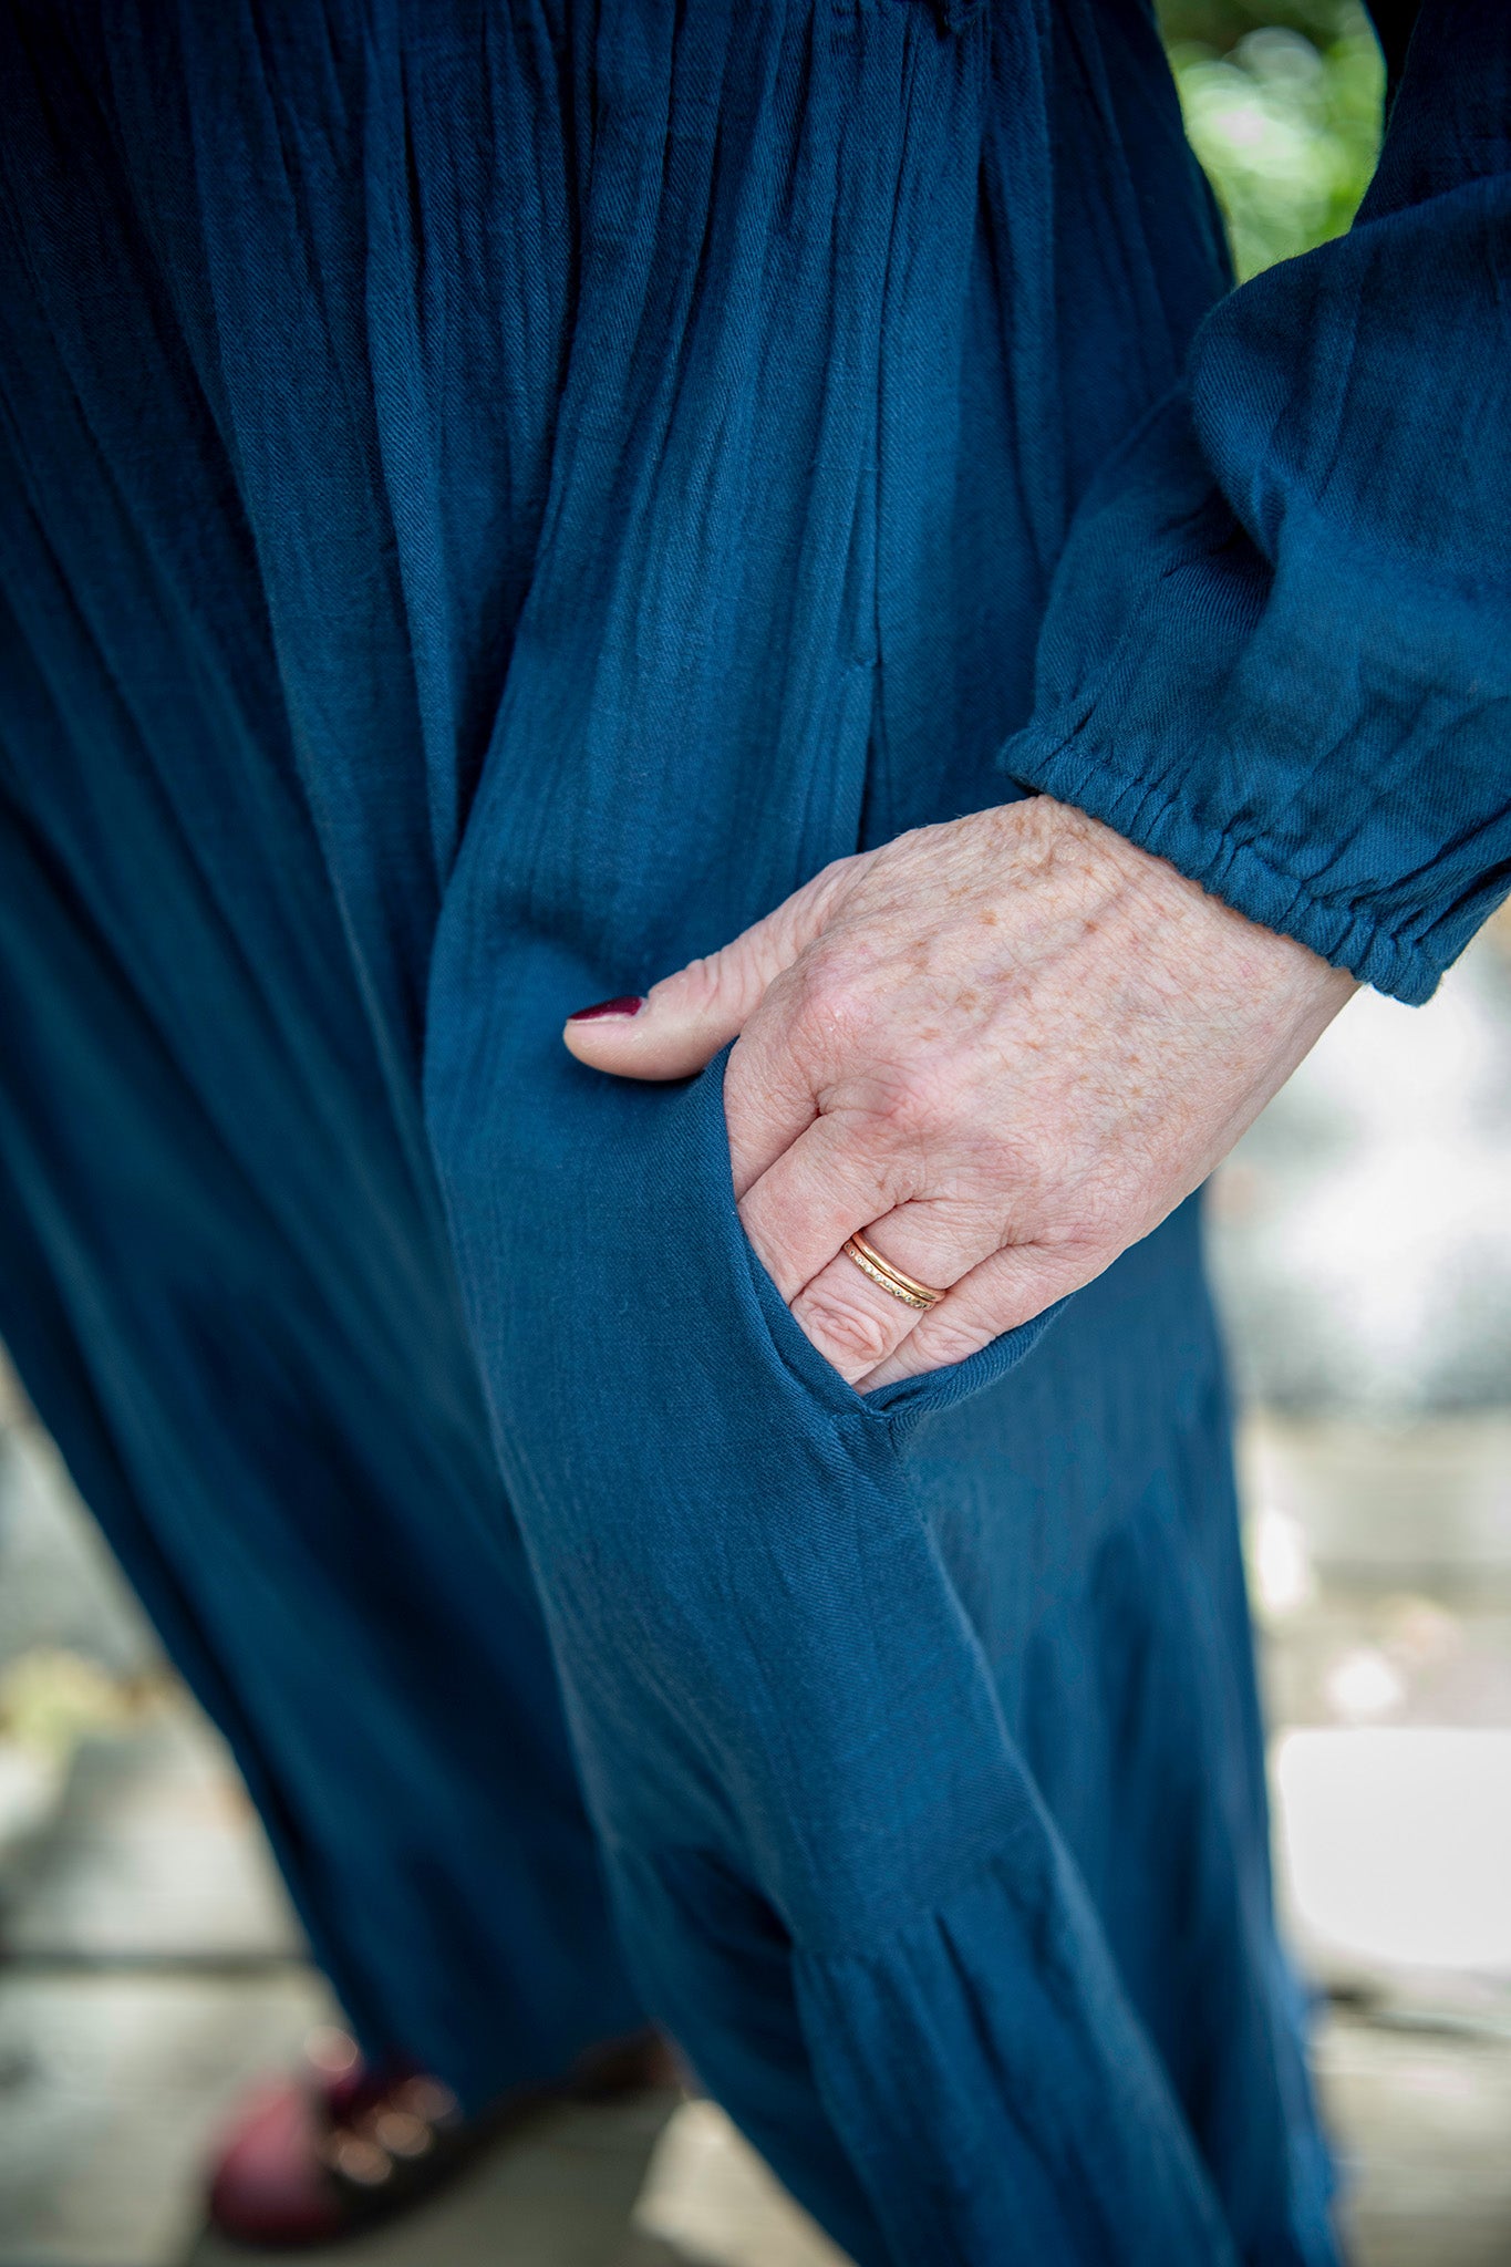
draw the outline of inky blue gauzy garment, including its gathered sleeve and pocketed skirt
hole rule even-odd
[[[859,1396],[723,1063],[560,1022],[1017,782],[1429,988],[1500,11],[1217,313],[1142,0],[11,0],[2,73],[0,1326],[367,2043],[650,2011],[861,2267],[1325,2267],[1194,1206]]]

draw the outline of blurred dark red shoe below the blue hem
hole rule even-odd
[[[233,2244],[335,2244],[424,2204],[548,2102],[605,2102],[677,2083],[661,2038],[639,2031],[596,2047],[557,2086],[519,2088],[480,2117],[462,2117],[439,2079],[369,2070],[344,2031],[315,2031],[306,2052],[308,2068],[261,2088],[222,2142],[208,2217]]]

